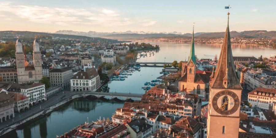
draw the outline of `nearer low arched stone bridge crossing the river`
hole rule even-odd
[[[118,99],[122,101],[126,101],[129,99],[132,100],[141,100],[143,94],[133,94],[133,93],[117,93],[117,92],[109,92],[109,93],[104,93],[104,92],[89,92],[89,91],[82,91],[82,92],[76,92],[78,95],[77,97],[88,97],[88,96],[94,96],[95,98],[105,98],[107,100],[113,100],[113,99]]]

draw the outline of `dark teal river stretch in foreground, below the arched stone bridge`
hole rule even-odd
[[[123,103],[75,99],[71,103],[52,112],[19,130],[10,132],[5,138],[54,138],[87,121],[99,117],[111,118],[112,113]]]

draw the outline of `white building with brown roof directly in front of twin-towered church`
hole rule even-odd
[[[13,83],[8,88],[8,91],[20,92],[24,96],[28,97],[30,99],[30,106],[46,100],[45,84],[43,83]]]

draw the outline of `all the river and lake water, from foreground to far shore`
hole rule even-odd
[[[140,57],[137,62],[172,62],[185,61],[188,59],[190,44],[181,43],[163,43],[147,42],[158,44],[159,52],[154,52],[154,56]],[[233,56],[263,56],[269,57],[276,53],[271,48],[257,48],[244,45],[232,46]],[[195,44],[195,54],[199,59],[211,58],[220,54],[220,45]],[[138,54],[139,55],[139,54]],[[165,59],[166,58],[166,59]],[[162,67],[141,67],[141,71],[135,71],[129,75],[125,81],[110,81],[108,83],[109,91],[126,93],[144,93],[141,89],[144,82],[149,82],[160,76]],[[116,108],[122,107],[123,103],[90,101],[88,99],[73,100],[71,103],[52,112],[49,116],[41,118],[25,126],[23,129],[13,131],[9,138],[53,138],[56,135],[64,134],[72,128],[87,121],[95,121],[101,117],[111,117]]]

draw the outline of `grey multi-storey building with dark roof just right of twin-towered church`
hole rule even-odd
[[[73,76],[70,67],[53,68],[49,71],[49,74],[51,86],[70,88],[70,78]]]

